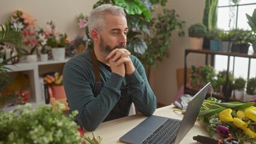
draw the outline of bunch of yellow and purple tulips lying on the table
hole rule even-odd
[[[256,99],[254,100],[256,101]],[[256,107],[254,102],[221,103],[216,98],[204,100],[198,119],[207,125],[210,137],[218,133],[223,137],[236,135],[240,141],[256,142]]]

